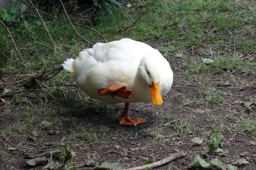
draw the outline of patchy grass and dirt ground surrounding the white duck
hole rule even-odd
[[[76,57],[90,45],[76,36],[69,23],[43,15],[56,43],[54,50],[40,20],[34,19],[37,14],[28,11],[23,20],[6,24],[23,59],[0,26],[0,93],[30,90],[0,95],[0,169],[41,169],[45,164],[24,163],[31,159],[27,155],[59,149],[61,144],[76,154],[68,166],[104,159],[131,168],[186,153],[156,169],[190,168],[195,155],[206,162],[217,158],[240,170],[256,168],[254,1],[124,1],[124,9],[113,8],[112,16],[69,13],[73,23],[90,25],[108,41],[132,38],[155,47],[169,61],[172,89],[160,107],[131,105],[130,114],[147,121],[136,127],[118,125],[122,103],[107,105],[84,92],[73,99],[72,73],[55,73],[66,58]],[[47,12],[65,19],[61,7]],[[126,30],[128,26],[132,27]],[[95,32],[76,29],[92,43],[104,42]],[[218,134],[224,136],[218,147],[226,154],[208,152]],[[194,137],[203,139],[202,144],[193,144]],[[239,158],[248,163],[239,166]]]

